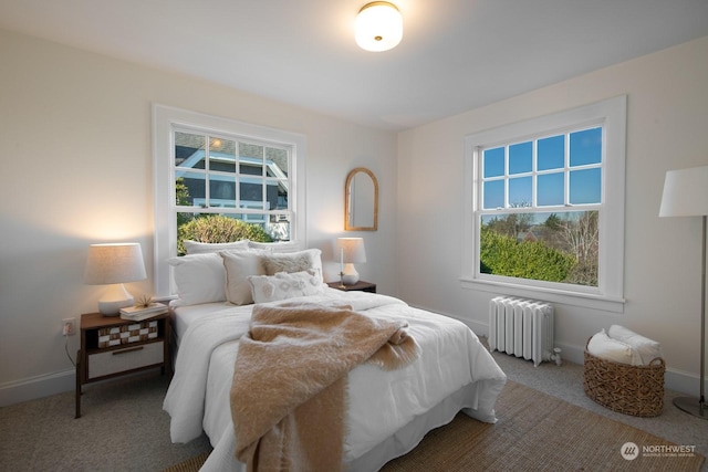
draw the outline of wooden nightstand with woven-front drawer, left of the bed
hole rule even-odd
[[[135,325],[142,325],[142,329]],[[113,335],[110,334],[112,331],[115,332]],[[169,313],[140,322],[101,313],[81,315],[75,418],[81,417],[81,395],[85,384],[156,367],[160,367],[163,375],[166,371],[171,374]]]

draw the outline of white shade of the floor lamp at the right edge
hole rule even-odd
[[[707,214],[708,166],[666,172],[659,217],[699,217]]]

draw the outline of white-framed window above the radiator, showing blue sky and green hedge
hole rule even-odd
[[[626,97],[466,137],[462,284],[623,310]]]

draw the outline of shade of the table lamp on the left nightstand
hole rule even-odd
[[[137,242],[91,244],[84,272],[88,285],[135,282],[147,279],[143,250]]]

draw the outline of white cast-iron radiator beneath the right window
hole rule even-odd
[[[533,360],[535,367],[543,360],[553,359],[553,305],[512,296],[492,298],[489,302],[489,349]]]

